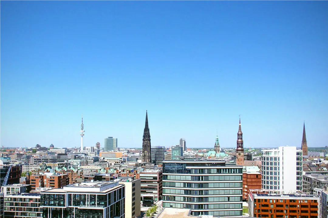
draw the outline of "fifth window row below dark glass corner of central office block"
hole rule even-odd
[[[241,209],[241,204],[185,204],[163,202],[164,207],[184,208],[192,210],[209,210],[209,209]]]

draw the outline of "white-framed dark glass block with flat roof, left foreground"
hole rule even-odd
[[[41,192],[44,218],[124,218],[125,185],[87,181]]]

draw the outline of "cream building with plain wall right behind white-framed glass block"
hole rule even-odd
[[[116,180],[115,180],[116,181]],[[125,218],[140,216],[140,179],[119,179],[125,185]]]

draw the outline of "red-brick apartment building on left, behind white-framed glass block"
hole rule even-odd
[[[59,174],[59,173],[51,173],[51,174],[37,174],[31,175],[30,177],[32,190],[35,188],[63,188],[64,186],[69,184],[68,174]]]

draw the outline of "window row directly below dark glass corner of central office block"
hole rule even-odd
[[[187,180],[187,181],[238,181],[241,176],[179,176],[164,175],[163,180]]]

